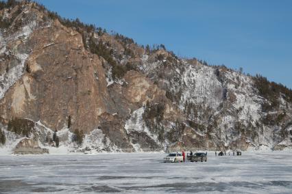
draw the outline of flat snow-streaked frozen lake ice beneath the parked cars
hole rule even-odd
[[[292,152],[162,163],[166,154],[0,156],[0,193],[292,193]]]

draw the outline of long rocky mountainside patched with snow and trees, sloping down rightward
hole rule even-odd
[[[280,87],[272,106],[256,77],[180,59],[163,46],[144,49],[36,3],[6,6],[0,16],[9,22],[0,34],[3,126],[27,118],[66,131],[66,141],[79,129],[83,146],[127,152],[292,144],[289,89]]]

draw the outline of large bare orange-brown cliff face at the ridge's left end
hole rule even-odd
[[[84,49],[80,33],[33,7],[33,3],[17,5],[14,9],[21,9],[19,16],[24,16],[13,21],[29,20],[33,25],[21,23],[19,30],[12,25],[1,36],[1,54],[5,56],[1,61],[3,124],[12,117],[23,117],[60,130],[66,128],[70,115],[72,130],[86,133],[107,120],[123,126],[119,119],[107,115],[117,111],[99,57]],[[8,12],[2,10],[3,15]],[[114,133],[127,146],[123,127]]]

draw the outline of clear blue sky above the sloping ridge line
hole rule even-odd
[[[181,57],[243,68],[292,88],[292,1],[37,0]]]

